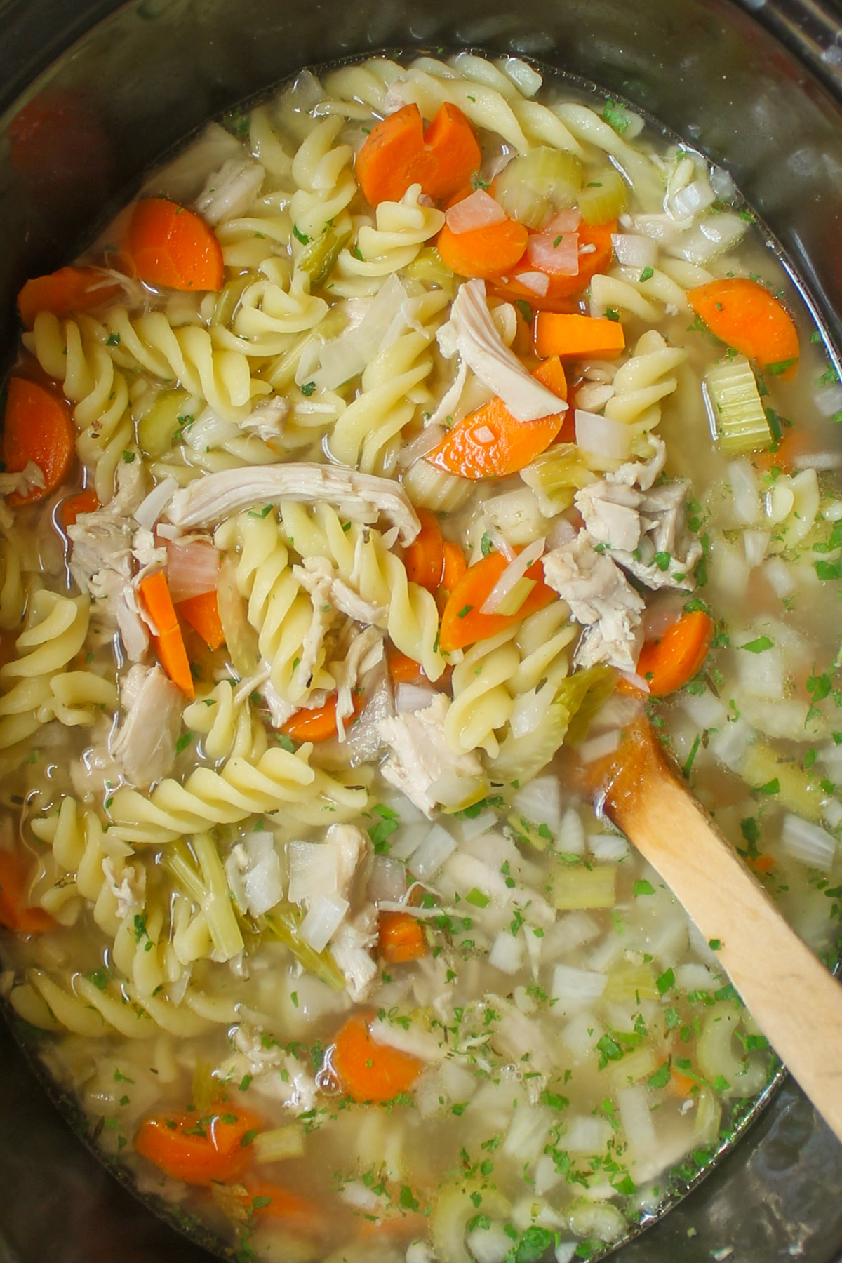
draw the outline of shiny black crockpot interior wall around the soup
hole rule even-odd
[[[831,0],[0,0],[0,376],[23,280],[68,261],[210,116],[305,64],[467,45],[597,83],[727,167],[842,345]],[[155,1218],[83,1137],[0,1021],[0,1263],[212,1258],[212,1242]],[[716,1170],[612,1257],[838,1263],[842,1147],[785,1081]]]

